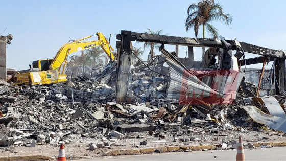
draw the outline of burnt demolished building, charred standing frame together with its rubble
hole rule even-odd
[[[174,134],[187,129],[185,135],[234,127],[253,129],[253,123],[246,122],[246,113],[255,122],[285,132],[285,112],[280,106],[285,101],[280,95],[286,87],[283,51],[222,37],[201,39],[122,31],[116,38],[120,40],[116,42],[117,62],[110,62],[97,74],[79,75],[68,83],[51,86],[1,83],[0,122],[6,126],[1,127],[0,145],[26,145],[31,139],[53,145],[83,137],[105,138],[92,145],[100,148],[109,147],[110,142],[123,139],[129,132],[148,131],[151,136],[164,138],[164,129],[176,129],[169,130]],[[147,64],[139,60],[133,66],[131,41],[160,43],[162,54]],[[176,57],[164,44],[188,46],[189,57]],[[202,62],[194,61],[193,47],[209,47]],[[245,59],[244,52],[261,57]],[[271,76],[272,84],[276,83],[273,91],[279,95],[275,98],[280,102],[272,96],[256,96],[259,87],[244,81],[242,66],[267,61],[275,62]],[[269,101],[275,106],[269,107]]]

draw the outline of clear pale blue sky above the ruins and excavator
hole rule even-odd
[[[96,32],[107,38],[121,30],[146,32],[163,29],[162,35],[195,37],[186,33],[187,8],[198,1],[4,1],[0,0],[0,35],[12,34],[7,48],[7,67],[15,70],[29,68],[34,60],[53,58],[59,48],[70,39],[79,39]],[[211,22],[226,39],[286,50],[286,1],[215,1],[233,18],[226,26]],[[199,36],[202,37],[202,27]],[[210,37],[208,34],[206,37]],[[95,40],[94,37],[90,40]],[[115,36],[111,45],[115,48]],[[141,47],[142,43],[133,43]],[[185,57],[185,48],[180,55]],[[174,51],[175,47],[168,47]],[[149,49],[143,59],[146,60]],[[195,51],[197,52],[197,50]],[[155,51],[160,54],[159,51]],[[195,59],[201,59],[201,52]],[[258,55],[247,54],[247,57]],[[252,67],[261,68],[261,64]],[[268,68],[270,65],[267,66]]]

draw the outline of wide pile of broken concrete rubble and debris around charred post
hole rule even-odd
[[[206,140],[205,135],[219,131],[244,132],[259,128],[242,107],[254,103],[249,83],[245,83],[234,105],[179,104],[167,96],[170,78],[162,73],[164,62],[158,57],[147,65],[132,66],[131,104],[115,102],[116,63],[107,65],[94,77],[84,74],[50,86],[11,87],[1,81],[0,146],[30,144],[35,147],[78,142],[83,137],[101,139],[89,144],[93,150],[111,147],[110,142],[140,131],[147,131],[148,136],[158,139],[169,137],[174,142],[201,143]],[[284,99],[279,97],[279,102],[285,102]],[[260,105],[267,110],[263,102]],[[190,137],[192,133],[202,137]],[[146,133],[138,135],[138,138],[144,137]],[[147,141],[141,141],[137,147],[146,144]],[[221,148],[236,146],[234,141],[223,140]]]

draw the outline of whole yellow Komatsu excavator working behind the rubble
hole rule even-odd
[[[98,36],[98,41],[82,42],[94,35]],[[36,60],[30,65],[29,70],[18,71],[8,81],[13,82],[14,85],[35,85],[35,84],[51,84],[57,82],[64,82],[67,80],[67,75],[64,74],[65,66],[67,64],[67,56],[71,53],[89,49],[100,45],[107,56],[114,60],[112,53],[113,48],[102,33],[98,32],[72,42],[64,44],[53,59]],[[114,51],[113,51],[114,52]]]

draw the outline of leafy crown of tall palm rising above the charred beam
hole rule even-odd
[[[229,14],[223,12],[223,8],[219,3],[213,0],[200,0],[198,4],[192,4],[187,10],[188,17],[186,19],[186,31],[194,27],[195,36],[198,37],[199,27],[203,25],[203,38],[205,38],[205,28],[212,38],[218,37],[218,29],[210,25],[211,21],[221,21],[226,25],[232,23]]]

